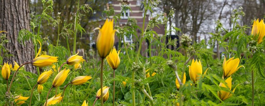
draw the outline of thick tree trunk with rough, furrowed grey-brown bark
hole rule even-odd
[[[18,43],[18,32],[22,29],[30,30],[29,26],[29,1],[28,0],[0,0],[0,30],[7,31],[8,43],[4,47],[12,54],[4,58],[5,62],[19,65],[30,62],[34,58],[32,41],[26,41],[25,45]],[[33,65],[25,65],[25,70],[37,73]]]

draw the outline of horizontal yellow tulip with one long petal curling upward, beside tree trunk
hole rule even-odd
[[[38,41],[38,40],[37,40]],[[36,55],[36,57],[32,60],[31,64],[37,67],[45,67],[45,66],[49,66],[49,65],[53,65],[53,63],[57,62],[58,57],[54,57],[54,56],[49,56],[49,55],[40,55],[41,52],[41,42],[38,41],[40,44],[40,49]]]

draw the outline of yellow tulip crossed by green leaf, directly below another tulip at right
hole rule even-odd
[[[225,88],[228,88],[228,89],[231,90],[231,88],[232,88],[232,78],[231,78],[231,76],[228,77],[228,78],[225,80],[225,82],[227,83],[227,85],[226,85],[226,84],[223,84],[223,83],[220,83],[219,86],[221,86],[221,87],[225,87]],[[239,85],[239,84],[238,84],[238,85]],[[238,85],[237,85],[237,86],[238,86]],[[235,92],[237,86],[233,89],[233,91],[232,91],[233,93]],[[232,94],[231,94],[230,92],[223,91],[223,90],[221,90],[221,91],[217,91],[217,94],[218,94],[218,97],[219,97],[222,101],[224,101],[225,99],[228,99],[228,98],[230,98],[230,97],[232,96]]]

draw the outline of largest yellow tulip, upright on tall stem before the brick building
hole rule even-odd
[[[107,19],[101,29],[96,29],[99,29],[96,45],[98,54],[102,59],[104,59],[107,57],[114,45],[114,35],[116,30],[113,30],[113,19]]]

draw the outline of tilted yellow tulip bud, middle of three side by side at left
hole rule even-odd
[[[57,88],[58,86],[61,86],[63,84],[68,76],[69,71],[69,69],[63,69],[55,76],[55,78],[53,79],[53,88]]]

